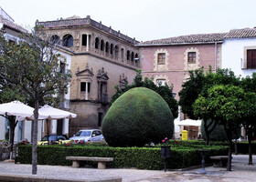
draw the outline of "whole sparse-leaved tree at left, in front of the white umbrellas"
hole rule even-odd
[[[47,38],[47,37],[44,37]],[[70,81],[69,72],[60,72],[59,54],[56,46],[42,39],[37,32],[23,36],[19,44],[9,44],[0,37],[0,79],[4,87],[16,87],[33,102],[32,122],[32,174],[37,174],[37,122],[40,101],[58,100],[67,92]]]

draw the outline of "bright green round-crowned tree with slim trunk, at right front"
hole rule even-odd
[[[216,85],[208,93],[200,94],[193,105],[194,114],[201,119],[212,118],[224,127],[229,140],[227,170],[231,170],[232,131],[240,127],[240,121],[247,112],[247,94],[239,86]]]

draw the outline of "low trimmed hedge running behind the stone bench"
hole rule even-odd
[[[228,155],[228,147],[202,147],[195,148],[171,147],[171,157],[167,158],[167,168],[185,168],[201,164],[201,154],[198,149],[208,149],[206,162],[209,156]],[[22,164],[31,164],[31,145],[18,148],[18,161]],[[114,157],[108,167],[136,167],[140,169],[164,169],[164,159],[160,155],[160,147],[64,147],[64,146],[38,146],[37,164],[54,166],[71,166],[68,156],[86,157]],[[93,162],[85,164],[97,165]]]

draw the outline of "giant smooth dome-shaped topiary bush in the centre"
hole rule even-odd
[[[174,119],[162,96],[136,87],[120,96],[102,122],[102,134],[112,147],[142,147],[171,138]]]

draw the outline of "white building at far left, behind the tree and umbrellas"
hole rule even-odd
[[[0,7],[0,33],[4,34],[6,40],[9,42],[18,43],[20,40],[19,35],[21,33],[26,33],[27,30],[20,25],[16,25],[14,19],[8,15]],[[69,50],[64,50],[59,48],[58,53],[61,60],[66,60],[65,69],[70,69],[71,66],[71,55]],[[64,96],[64,102],[59,106],[63,110],[69,110],[69,92]],[[24,138],[31,141],[31,122],[33,121],[19,121],[16,126],[15,131],[15,142],[18,142]],[[49,122],[49,133],[50,134],[63,134],[69,135],[69,119],[58,119]],[[38,140],[42,136],[47,134],[47,124],[45,121],[38,122]],[[4,139],[9,139],[9,126],[8,120],[5,117],[0,116],[0,141]]]

